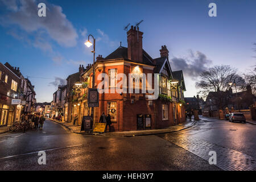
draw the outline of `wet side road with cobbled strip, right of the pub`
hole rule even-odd
[[[256,170],[256,126],[201,117],[196,126],[177,133],[158,135],[209,160],[217,154],[217,167],[224,170]]]

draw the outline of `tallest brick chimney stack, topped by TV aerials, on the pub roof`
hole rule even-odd
[[[131,26],[127,32],[128,59],[142,63],[142,35],[143,32],[139,28]]]

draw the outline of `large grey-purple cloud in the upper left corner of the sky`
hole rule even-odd
[[[1,19],[5,25],[15,24],[28,34],[45,31],[60,46],[73,47],[77,44],[77,32],[60,6],[46,3],[46,17],[38,16],[38,3],[35,0],[0,0],[8,10]]]

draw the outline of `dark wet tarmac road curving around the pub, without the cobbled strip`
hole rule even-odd
[[[209,129],[210,127],[212,129]],[[234,133],[228,134],[229,127],[237,127],[234,133],[240,132],[241,137],[237,137]],[[254,139],[249,139],[246,136],[250,134],[245,134],[249,132],[255,134],[255,131],[256,127],[249,124],[224,125],[219,121],[206,121],[179,133],[129,138],[100,137],[69,133],[57,123],[46,121],[43,130],[0,135],[0,169],[221,170],[225,168],[208,163],[207,159],[210,156],[205,159],[203,155],[200,156],[184,147],[184,142],[177,143],[174,138],[178,140],[183,136],[184,139],[185,137],[204,139],[211,144],[224,143],[225,146],[233,146],[232,149],[242,154],[255,157],[253,152],[255,136]],[[225,139],[227,137],[228,140]],[[240,144],[237,140],[229,143],[234,137],[239,138],[240,142],[249,142],[249,146]],[[187,146],[189,143],[195,143],[191,139],[186,139],[185,142]],[[46,165],[38,164],[39,151],[46,151]]]

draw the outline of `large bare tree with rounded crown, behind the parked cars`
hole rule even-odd
[[[200,81],[196,82],[196,86],[200,88],[198,92],[207,98],[209,92],[212,93],[213,105],[216,105],[218,109],[223,109],[228,105],[230,96],[228,91],[230,86],[236,85],[237,89],[242,88],[245,84],[243,78],[238,75],[237,69],[230,67],[230,65],[215,65],[200,74]]]

